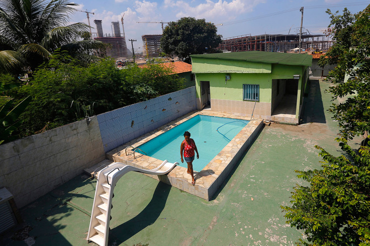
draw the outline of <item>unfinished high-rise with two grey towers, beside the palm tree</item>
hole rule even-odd
[[[112,36],[111,34],[104,36],[101,20],[95,20],[94,23],[97,27],[97,37],[94,39],[111,45],[107,48],[107,56],[113,58],[127,57],[126,38],[121,37],[120,23],[112,22]]]

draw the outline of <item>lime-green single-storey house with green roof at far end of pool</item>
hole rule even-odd
[[[312,56],[245,51],[191,55],[198,109],[298,124]]]

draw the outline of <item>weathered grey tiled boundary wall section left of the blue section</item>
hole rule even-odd
[[[105,159],[97,117],[0,145],[0,188],[18,207]]]

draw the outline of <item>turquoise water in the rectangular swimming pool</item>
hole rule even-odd
[[[181,167],[187,168],[188,165],[185,161],[181,163],[180,145],[184,140],[183,133],[188,131],[198,148],[199,159],[197,159],[196,154],[193,169],[199,172],[248,122],[249,120],[196,115],[138,148],[145,152],[147,156],[162,161],[168,160],[171,163],[178,162]]]

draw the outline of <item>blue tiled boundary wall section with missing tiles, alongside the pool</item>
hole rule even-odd
[[[105,152],[196,110],[195,86],[98,115]]]

